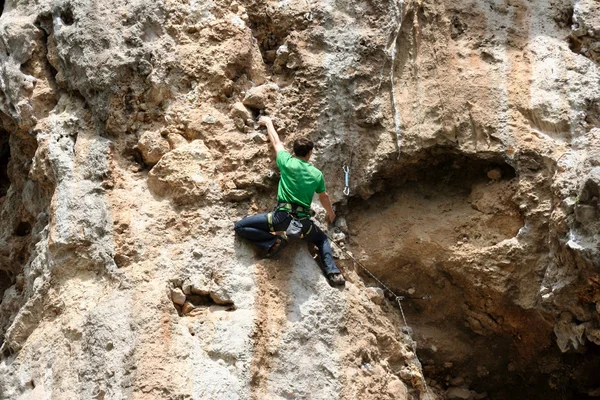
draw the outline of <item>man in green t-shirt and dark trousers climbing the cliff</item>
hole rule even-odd
[[[327,236],[310,219],[310,205],[316,192],[327,211],[329,222],[335,220],[335,212],[331,207],[329,195],[325,191],[323,173],[308,163],[314,147],[312,140],[296,139],[292,157],[285,151],[271,119],[263,116],[258,123],[267,127],[269,140],[277,154],[277,166],[281,171],[281,180],[277,190],[278,204],[271,213],[253,215],[236,222],[235,232],[265,251],[267,257],[272,257],[285,247],[287,241],[282,236],[273,235],[271,232],[286,230],[292,217],[300,220],[303,239],[314,243],[319,249],[323,272],[329,284],[332,286],[344,285],[346,281],[333,261]]]

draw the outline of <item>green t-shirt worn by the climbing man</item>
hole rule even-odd
[[[292,157],[285,150],[277,153],[277,166],[281,180],[277,189],[277,201],[294,203],[310,208],[312,197],[325,191],[323,173],[304,160]]]

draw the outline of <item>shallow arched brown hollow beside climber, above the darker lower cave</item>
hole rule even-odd
[[[371,263],[418,265],[423,254],[442,261],[462,246],[496,245],[523,226],[508,164],[435,157],[385,177],[371,199],[350,202],[352,244]]]

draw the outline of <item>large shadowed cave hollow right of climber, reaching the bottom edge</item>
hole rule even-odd
[[[395,162],[376,176],[368,200],[348,203],[351,251],[367,254],[366,267],[396,293],[431,296],[406,301],[404,312],[437,391],[492,400],[600,396],[598,346],[563,354],[550,315],[471,286],[496,284],[473,264],[507,274],[521,267],[506,258],[510,246],[498,247],[525,224],[520,179],[493,154],[435,148]]]

